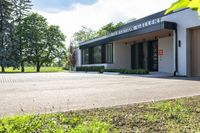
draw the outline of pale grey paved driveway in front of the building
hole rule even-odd
[[[200,81],[84,73],[0,75],[0,116],[200,95]]]

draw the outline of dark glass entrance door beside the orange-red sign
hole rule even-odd
[[[148,44],[148,68],[150,71],[158,71],[158,41],[151,41]]]

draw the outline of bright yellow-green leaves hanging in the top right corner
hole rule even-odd
[[[182,8],[191,8],[196,10],[200,15],[200,0],[178,0],[172,4],[172,6],[165,12],[165,14]]]

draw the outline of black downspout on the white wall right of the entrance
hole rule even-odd
[[[177,72],[178,72],[178,32],[177,32],[177,26],[175,29],[175,71],[174,71],[174,76],[177,76]]]

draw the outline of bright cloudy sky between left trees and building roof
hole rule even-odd
[[[73,34],[87,26],[102,26],[142,18],[170,7],[177,0],[32,0],[33,12],[47,18],[49,24],[60,26],[66,45]]]

